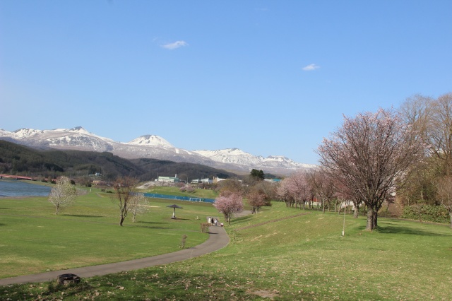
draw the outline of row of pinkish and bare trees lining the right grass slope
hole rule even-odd
[[[415,95],[398,110],[344,116],[316,151],[320,166],[283,179],[278,198],[287,206],[318,199],[367,208],[367,230],[378,225],[383,203],[444,206],[452,227],[452,93]],[[355,211],[357,213],[357,210]]]

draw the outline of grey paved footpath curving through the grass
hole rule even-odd
[[[0,285],[9,285],[15,283],[35,283],[54,281],[61,274],[73,273],[81,278],[102,276],[109,273],[121,273],[124,271],[138,270],[140,268],[148,268],[150,266],[160,266],[162,264],[170,264],[176,261],[191,259],[214,252],[218,249],[226,247],[229,244],[229,237],[223,227],[210,227],[209,238],[206,242],[198,244],[196,247],[183,249],[181,251],[162,254],[141,259],[133,259],[129,261],[121,261],[113,264],[102,264],[100,266],[85,266],[83,268],[70,268],[68,270],[52,271],[47,273],[25,275],[11,278],[0,279]]]

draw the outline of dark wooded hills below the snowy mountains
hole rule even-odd
[[[88,177],[99,172],[104,179],[119,175],[150,181],[160,176],[177,175],[182,180],[202,177],[237,177],[232,172],[193,163],[157,159],[125,159],[109,152],[37,150],[0,140],[0,173],[32,177]]]

